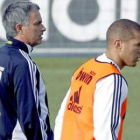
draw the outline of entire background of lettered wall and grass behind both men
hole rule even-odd
[[[6,41],[1,15],[9,4],[16,1],[19,0],[0,1],[0,46]],[[88,59],[105,52],[106,31],[113,21],[127,18],[140,23],[140,0],[30,1],[40,6],[47,29],[43,43],[34,48],[31,56],[46,83],[53,128],[74,70]],[[140,62],[136,68],[124,68],[122,74],[129,85],[123,140],[139,140]]]

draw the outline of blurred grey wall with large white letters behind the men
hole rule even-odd
[[[0,14],[16,1],[19,0],[0,0]],[[30,1],[40,6],[47,29],[43,43],[32,55],[98,55],[105,50],[106,30],[114,20],[128,18],[140,22],[140,0]],[[5,39],[0,20],[0,43]]]

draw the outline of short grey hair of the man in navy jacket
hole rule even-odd
[[[40,7],[37,4],[28,1],[19,1],[7,7],[2,16],[2,23],[7,38],[17,35],[15,29],[16,24],[21,23],[22,25],[28,25],[29,13],[32,10],[40,10]]]

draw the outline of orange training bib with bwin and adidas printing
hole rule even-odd
[[[65,107],[61,140],[96,140],[93,116],[96,83],[112,74],[120,75],[120,72],[114,65],[95,59],[89,60],[75,71]],[[122,137],[126,103],[127,99],[124,100],[120,112],[121,123],[117,140]]]

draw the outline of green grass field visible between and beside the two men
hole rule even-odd
[[[52,128],[54,128],[54,121],[60,104],[69,88],[72,73],[89,58],[91,57],[33,57],[46,84]],[[122,74],[129,85],[123,140],[139,140],[140,62],[135,68],[124,68]]]

